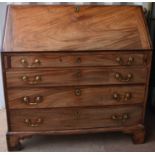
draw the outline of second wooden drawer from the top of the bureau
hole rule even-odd
[[[145,83],[146,69],[68,68],[6,72],[8,87]]]

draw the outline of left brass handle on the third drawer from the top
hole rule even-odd
[[[22,102],[27,104],[27,105],[37,105],[38,103],[41,103],[43,101],[43,97],[42,96],[36,96],[34,97],[34,102],[30,101],[30,98],[28,96],[24,96],[22,98]]]

